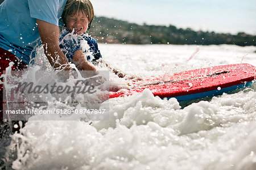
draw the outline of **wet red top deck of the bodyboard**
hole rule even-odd
[[[220,90],[230,86],[254,81],[256,68],[250,64],[230,64],[191,71],[174,73],[171,76],[151,76],[141,81],[133,81],[125,89],[110,91],[110,98],[130,96],[150,89],[154,96],[170,98]],[[214,96],[214,95],[213,95]]]

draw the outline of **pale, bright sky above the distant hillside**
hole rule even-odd
[[[256,35],[256,0],[90,0],[96,16],[195,31]]]

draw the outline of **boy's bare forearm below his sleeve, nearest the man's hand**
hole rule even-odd
[[[73,61],[76,65],[76,67],[79,70],[82,71],[96,71],[96,68],[93,67],[93,65],[90,65],[88,61],[86,60],[84,54],[82,53],[81,49],[78,49],[75,51],[74,56],[73,56]]]

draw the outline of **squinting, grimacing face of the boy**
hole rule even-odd
[[[68,15],[66,18],[67,27],[70,31],[75,29],[74,34],[81,35],[86,32],[89,24],[89,20],[86,14],[79,11],[79,14]]]

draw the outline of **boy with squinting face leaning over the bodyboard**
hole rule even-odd
[[[79,70],[96,71],[92,64],[98,63],[102,58],[96,40],[86,35],[94,18],[94,10],[89,0],[68,0],[63,15],[64,28],[60,35],[60,48],[68,60],[74,63]],[[86,49],[86,47],[88,47]],[[85,55],[87,56],[85,56]],[[92,61],[92,62],[88,62]],[[101,59],[101,63],[106,64]],[[118,77],[125,74],[110,68]]]

